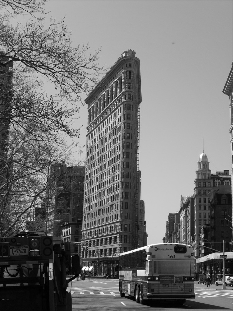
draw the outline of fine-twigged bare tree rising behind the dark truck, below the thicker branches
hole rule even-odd
[[[50,166],[69,161],[71,153],[71,147],[60,138],[55,143],[35,129],[33,134],[20,127],[11,131],[7,161],[1,170],[1,236],[25,230],[35,208],[43,205],[56,182],[55,178],[51,182]]]

